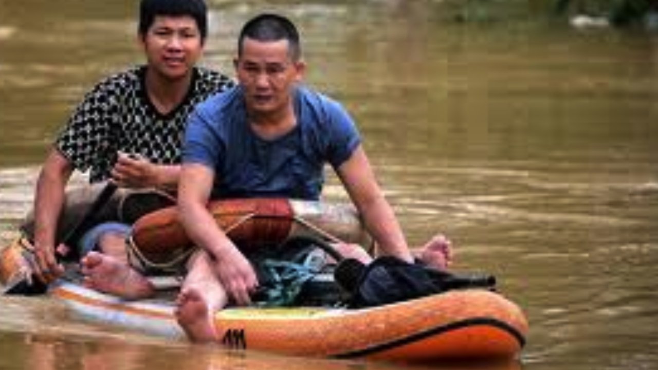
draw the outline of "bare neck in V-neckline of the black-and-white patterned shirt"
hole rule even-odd
[[[161,115],[166,115],[176,109],[190,90],[192,71],[184,78],[170,80],[164,78],[150,68],[146,70],[146,93],[153,107]]]

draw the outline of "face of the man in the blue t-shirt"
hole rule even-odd
[[[288,41],[242,41],[242,55],[235,60],[238,80],[245,90],[247,109],[271,114],[287,109],[293,84],[305,68],[288,54]]]

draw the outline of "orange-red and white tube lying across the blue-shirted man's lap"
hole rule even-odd
[[[278,246],[297,236],[368,246],[370,237],[356,209],[342,203],[285,198],[248,198],[212,201],[211,214],[242,251]],[[184,255],[193,243],[178,220],[176,207],[149,213],[133,225],[131,244],[153,265]]]

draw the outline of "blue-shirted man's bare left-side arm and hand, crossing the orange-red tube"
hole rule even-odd
[[[178,186],[178,217],[190,238],[215,260],[215,271],[237,304],[251,303],[258,280],[249,261],[219,228],[207,209],[214,173],[199,164],[184,164]]]

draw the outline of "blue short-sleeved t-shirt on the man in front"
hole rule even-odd
[[[197,105],[183,162],[215,171],[213,199],[320,198],[324,163],[340,167],[361,138],[342,105],[329,97],[300,86],[293,101],[297,124],[275,140],[260,138],[249,126],[240,86]]]

